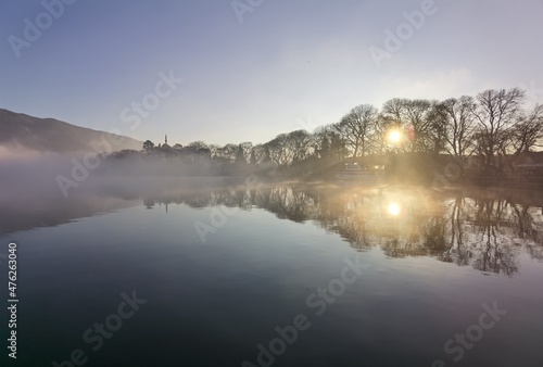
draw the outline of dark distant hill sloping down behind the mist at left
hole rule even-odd
[[[0,147],[8,149],[23,148],[54,153],[90,152],[97,149],[106,151],[105,142],[114,142],[118,139],[110,132],[71,125],[54,118],[39,118],[0,109]],[[140,150],[142,144],[142,141],[124,137],[122,143],[111,144],[111,149],[113,151]]]

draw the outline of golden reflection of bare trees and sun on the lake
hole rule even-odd
[[[538,201],[539,200],[539,201]],[[355,249],[380,246],[390,257],[432,256],[513,276],[522,249],[543,260],[543,199],[538,193],[435,192],[421,188],[296,188],[215,190],[147,198],[144,205],[215,205],[312,220]]]

